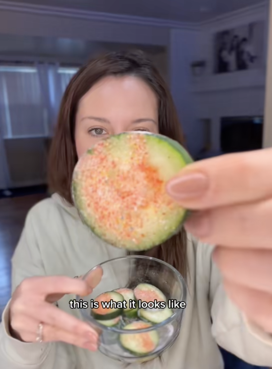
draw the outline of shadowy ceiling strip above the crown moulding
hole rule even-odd
[[[264,0],[17,0],[16,2],[183,22],[199,22],[230,11],[263,3]]]

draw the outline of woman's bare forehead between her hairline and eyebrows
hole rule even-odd
[[[157,113],[157,97],[144,80],[135,76],[108,76],[82,97],[78,114],[104,116],[122,110],[130,114]]]

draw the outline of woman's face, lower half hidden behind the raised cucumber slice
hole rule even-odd
[[[158,104],[140,78],[109,76],[80,100],[75,120],[75,145],[80,157],[109,135],[127,131],[158,133]]]

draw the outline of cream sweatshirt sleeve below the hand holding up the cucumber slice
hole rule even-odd
[[[210,306],[212,335],[217,344],[243,361],[257,366],[272,368],[272,335],[250,323],[227,296],[222,276],[212,261],[210,265]]]

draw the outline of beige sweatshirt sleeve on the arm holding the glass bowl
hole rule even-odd
[[[11,259],[11,292],[27,277],[43,276],[44,269],[33,230],[32,217],[35,210],[27,215],[23,232]],[[72,358],[68,358],[65,345],[58,342],[21,342],[9,332],[10,301],[2,314],[0,323],[0,362],[5,369],[74,369]]]

